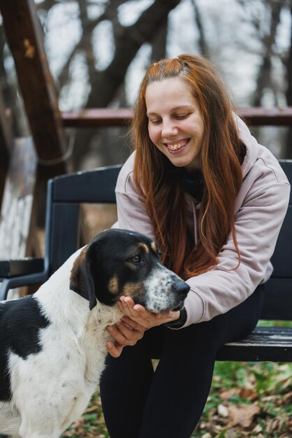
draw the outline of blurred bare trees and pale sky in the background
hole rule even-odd
[[[128,107],[145,66],[182,52],[217,67],[235,106],[292,106],[291,0],[36,0],[62,111]],[[0,78],[13,133],[27,134],[17,77],[0,27]],[[291,129],[256,135],[292,157]],[[68,129],[75,169],[123,162],[126,128]]]

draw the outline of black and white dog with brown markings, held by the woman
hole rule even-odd
[[[0,433],[57,438],[87,407],[103,371],[121,295],[149,311],[180,309],[189,285],[163,267],[156,243],[109,229],[41,288],[0,302]]]

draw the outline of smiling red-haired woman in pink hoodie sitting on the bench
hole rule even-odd
[[[101,379],[105,423],[111,438],[188,438],[218,349],[258,322],[290,188],[202,57],[149,66],[133,140],[117,181],[118,226],[155,239],[191,290],[182,311],[160,315],[121,298]]]

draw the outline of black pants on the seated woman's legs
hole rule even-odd
[[[119,358],[108,355],[101,402],[111,438],[189,438],[210,392],[218,349],[258,322],[263,287],[242,304],[180,330],[154,327]],[[154,372],[152,358],[159,358]]]

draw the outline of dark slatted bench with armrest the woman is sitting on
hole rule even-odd
[[[292,183],[292,161],[281,161]],[[115,203],[121,166],[59,176],[48,183],[44,259],[0,262],[0,299],[9,288],[45,281],[79,247],[82,203]],[[266,283],[263,320],[292,320],[292,205],[272,256],[274,272]],[[217,360],[292,362],[292,327],[256,327],[238,342],[220,349]]]

